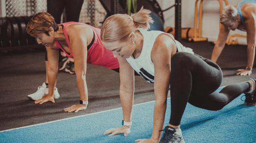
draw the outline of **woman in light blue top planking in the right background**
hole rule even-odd
[[[221,28],[214,46],[211,60],[216,62],[219,58],[230,30],[239,29],[247,34],[247,64],[245,69],[238,69],[237,75],[246,76],[252,74],[255,58],[256,42],[256,0],[243,0],[235,6],[226,6],[220,15]]]

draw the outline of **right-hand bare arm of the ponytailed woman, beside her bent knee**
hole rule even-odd
[[[164,41],[164,42],[163,42]],[[169,36],[161,34],[156,38],[151,52],[154,63],[154,93],[156,103],[154,107],[154,127],[152,138],[159,140],[163,129],[166,99],[169,89],[169,78],[171,72],[171,55],[176,51],[176,44]]]

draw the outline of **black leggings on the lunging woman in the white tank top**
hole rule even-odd
[[[213,61],[199,55],[178,52],[171,58],[171,118],[178,126],[187,102],[207,110],[219,110],[249,90],[248,82],[230,84],[219,93],[222,71]]]

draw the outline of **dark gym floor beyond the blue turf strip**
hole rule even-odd
[[[213,45],[210,42],[187,42],[182,44],[191,47],[195,53],[210,59]],[[246,48],[244,45],[226,45],[219,61],[223,70],[223,83],[247,81],[256,77],[256,69],[251,76],[236,76],[236,69],[246,65]],[[67,113],[63,108],[77,104],[79,93],[76,86],[76,75],[60,71],[56,87],[61,97],[56,103],[37,105],[27,98],[38,86],[45,82],[46,71],[44,48],[9,51],[0,53],[0,130],[50,122],[54,120],[106,111],[121,107],[119,99],[119,74],[111,69],[96,65],[87,65],[87,86],[89,94],[88,109],[77,113]],[[254,62],[255,63],[255,62]],[[169,96],[169,95],[168,95]],[[135,77],[134,104],[154,101],[153,84],[140,76]],[[242,101],[241,101],[242,102]]]

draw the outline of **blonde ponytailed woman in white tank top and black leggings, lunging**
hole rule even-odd
[[[146,31],[152,22],[150,11],[141,8],[135,15],[112,15],[101,29],[101,40],[120,65],[120,99],[124,120],[121,127],[111,128],[104,135],[130,133],[134,96],[134,70],[154,83],[156,102],[154,126],[150,139],[140,143],[184,143],[180,129],[187,102],[208,110],[219,110],[234,98],[246,93],[245,105],[255,105],[255,79],[231,84],[220,93],[215,90],[222,82],[219,66],[185,48],[173,36],[159,31]],[[141,27],[141,28],[139,28]],[[171,86],[171,117],[164,130],[167,93]],[[254,100],[255,99],[255,100]],[[120,121],[121,122],[121,121]],[[161,138],[162,131],[165,131]],[[146,131],[145,131],[146,132]]]

